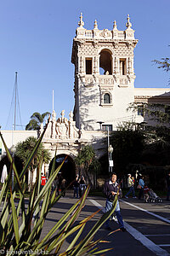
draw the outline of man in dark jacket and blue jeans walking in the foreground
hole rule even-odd
[[[111,178],[108,181],[106,181],[104,185],[104,194],[106,196],[105,212],[109,212],[111,210],[115,196],[118,193],[118,189],[119,189],[119,186],[118,186],[118,183],[116,182],[116,172],[112,172]],[[116,213],[116,218],[117,218],[120,230],[122,230],[122,232],[125,232],[126,229],[124,228],[119,201],[116,202],[115,213]],[[110,222],[110,219],[108,218],[105,221],[106,230],[111,230],[109,222]]]

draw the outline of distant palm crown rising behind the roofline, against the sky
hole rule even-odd
[[[35,112],[31,115],[31,120],[30,122],[26,125],[26,130],[39,130],[40,125],[43,123],[44,119],[51,115],[49,112],[45,113],[38,113]]]

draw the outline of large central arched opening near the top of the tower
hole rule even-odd
[[[100,52],[99,73],[112,74],[112,55],[109,49],[102,49]]]

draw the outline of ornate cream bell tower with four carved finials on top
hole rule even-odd
[[[99,130],[99,123],[116,125],[127,120],[127,107],[134,101],[134,38],[129,15],[127,29],[119,31],[116,21],[112,30],[84,28],[82,14],[73,40],[71,62],[75,65],[75,108],[77,128]]]

